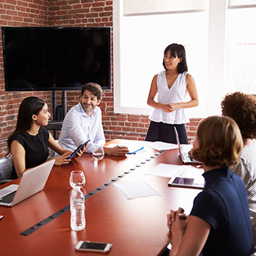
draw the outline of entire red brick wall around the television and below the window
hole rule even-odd
[[[0,26],[109,26],[112,28],[112,1],[108,0],[2,0]],[[112,88],[115,85],[112,85]],[[51,92],[5,92],[0,37],[0,157],[6,151],[9,133],[16,125],[19,103],[29,95],[36,95],[48,102]],[[67,92],[67,109],[77,104],[79,92]],[[61,92],[57,92],[57,104],[61,104]],[[102,122],[106,140],[124,138],[144,140],[149,120],[143,115],[115,114],[113,92],[105,92],[101,103]],[[195,136],[199,119],[192,119],[187,126],[189,137]]]

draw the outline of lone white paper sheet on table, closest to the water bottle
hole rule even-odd
[[[138,197],[148,197],[154,195],[161,195],[155,189],[153,189],[147,182],[123,182],[113,183],[113,185],[123,192],[126,199],[136,199]]]

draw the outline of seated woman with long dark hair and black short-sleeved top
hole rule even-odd
[[[47,161],[49,148],[55,150],[59,157],[54,157],[55,165],[68,164],[69,150],[64,150],[54,137],[42,126],[46,126],[50,113],[43,99],[28,97],[19,106],[16,130],[7,140],[8,153],[12,154],[12,178],[22,176],[22,173]],[[79,153],[79,155],[81,152]]]

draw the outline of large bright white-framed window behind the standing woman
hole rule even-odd
[[[199,106],[189,109],[191,117],[220,114],[220,100],[227,92],[256,93],[254,7],[227,9],[227,1],[209,0],[207,6],[197,2],[197,10],[189,6],[179,12],[144,14],[133,6],[135,14],[124,15],[124,1],[113,1],[115,112],[151,111],[150,83],[164,70],[164,48],[170,43],[185,46],[189,74],[199,93]]]

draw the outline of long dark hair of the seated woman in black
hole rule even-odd
[[[31,123],[32,123],[32,116],[38,115],[43,106],[45,101],[38,97],[27,97],[22,100],[21,104],[19,105],[19,112],[18,112],[18,119],[16,124],[16,130],[9,135],[7,140],[7,154],[8,156],[11,151],[11,143],[12,137],[14,137],[18,133],[22,133],[26,130],[29,130]]]

